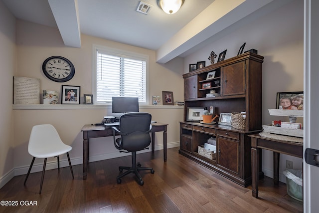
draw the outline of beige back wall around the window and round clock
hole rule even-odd
[[[14,25],[14,23],[12,24]],[[11,25],[9,25],[12,27]],[[14,47],[14,40],[11,41]],[[161,95],[161,91],[172,91],[174,100],[183,100],[183,59],[176,58],[164,65],[155,62],[155,51],[134,47],[122,43],[117,43],[105,39],[100,39],[88,35],[81,35],[81,48],[66,47],[63,44],[61,36],[57,29],[30,23],[27,21],[16,21],[16,50],[17,59],[10,58],[12,65],[7,70],[14,70],[14,63],[17,61],[16,76],[32,77],[40,79],[40,91],[61,90],[61,85],[81,86],[81,97],[83,94],[92,94],[92,44],[107,46],[112,48],[133,51],[149,56],[149,99],[152,104],[153,95]],[[14,50],[14,49],[13,49]],[[11,50],[12,51],[12,50]],[[1,54],[7,54],[1,50]],[[59,55],[68,58],[75,66],[75,76],[68,82],[57,83],[47,79],[41,66],[43,61],[53,55]],[[7,57],[7,55],[6,55]],[[15,60],[16,59],[16,60]],[[2,58],[1,58],[2,60]],[[1,76],[2,76],[1,71]],[[111,114],[110,106],[72,106],[63,105],[58,109],[43,109],[43,105],[35,106],[13,106],[12,111],[12,76],[13,71],[6,73],[7,78],[2,86],[2,91],[6,93],[8,99],[5,106],[8,110],[1,114],[7,118],[12,128],[2,125],[0,131],[6,131],[7,139],[11,138],[11,143],[5,144],[3,150],[4,158],[2,162],[8,161],[7,166],[13,170],[14,175],[26,174],[28,166],[31,162],[31,156],[27,153],[27,144],[30,131],[33,125],[50,123],[53,124],[62,140],[72,146],[70,152],[72,163],[82,164],[82,133],[80,132],[84,124],[101,122],[103,116]],[[2,78],[1,78],[2,80]],[[4,79],[3,79],[4,80]],[[83,99],[82,99],[83,100]],[[83,102],[83,101],[81,101]],[[161,123],[167,123],[167,143],[168,147],[179,146],[179,126],[178,121],[183,118],[183,108],[179,106],[141,106],[140,111],[150,112],[153,120]],[[7,112],[9,111],[9,112]],[[12,119],[13,113],[13,119]],[[13,125],[14,123],[14,125]],[[2,120],[1,120],[2,124]],[[7,124],[7,123],[3,123]],[[5,129],[6,128],[6,129]],[[10,131],[11,134],[9,134]],[[13,130],[13,131],[12,131]],[[14,135],[14,136],[13,136]],[[14,139],[13,139],[14,137]],[[12,141],[13,139],[13,141]],[[1,145],[2,146],[2,145]],[[156,133],[156,149],[162,149],[162,134]],[[10,154],[10,159],[7,155]],[[90,161],[102,160],[121,156],[113,145],[113,138],[92,139],[90,147]],[[169,156],[168,156],[169,158]],[[13,160],[14,159],[14,160]],[[65,160],[65,157],[61,157]],[[54,161],[54,163],[52,163]],[[42,160],[36,160],[34,170],[40,171]],[[3,163],[3,166],[6,165]],[[62,161],[62,166],[66,166],[67,162]],[[48,160],[48,169],[56,168],[54,159]],[[3,169],[2,169],[3,170]]]

